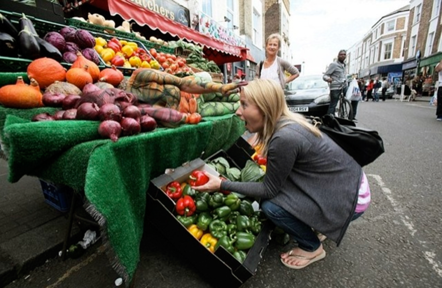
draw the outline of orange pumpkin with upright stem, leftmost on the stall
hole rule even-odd
[[[31,79],[31,85],[18,77],[16,84],[0,88],[0,104],[9,108],[37,108],[42,107],[43,95],[37,81]]]

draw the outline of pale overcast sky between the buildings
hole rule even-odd
[[[291,0],[290,49],[301,75],[322,74],[383,16],[410,0]]]

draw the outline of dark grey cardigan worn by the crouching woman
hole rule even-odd
[[[270,199],[338,245],[355,212],[362,168],[327,135],[293,123],[269,144],[264,181],[222,181],[221,189]]]

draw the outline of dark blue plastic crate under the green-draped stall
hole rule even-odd
[[[42,179],[39,180],[45,202],[60,212],[69,211],[73,190],[64,185],[55,185]]]

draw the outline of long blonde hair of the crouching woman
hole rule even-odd
[[[319,128],[310,124],[303,115],[292,113],[285,102],[282,87],[275,80],[256,79],[243,87],[243,93],[250,103],[256,104],[264,114],[264,128],[257,133],[255,144],[261,146],[261,153],[267,155],[269,142],[276,130],[298,123],[317,137],[321,137]]]

